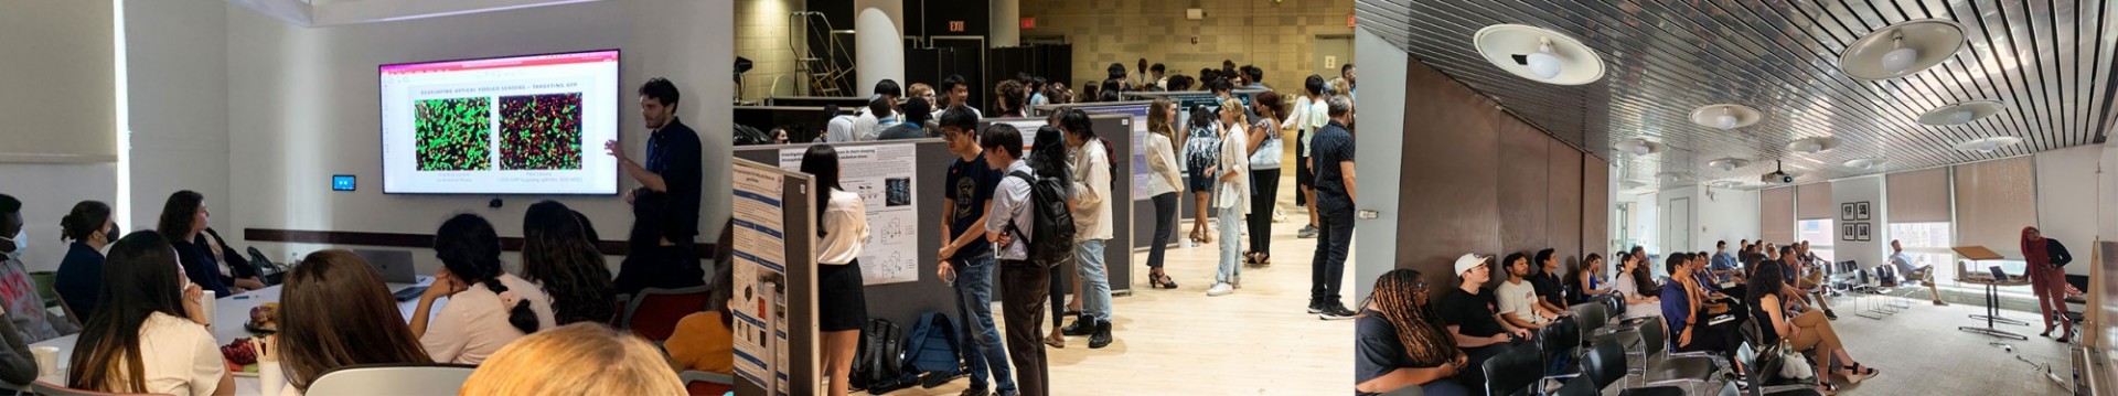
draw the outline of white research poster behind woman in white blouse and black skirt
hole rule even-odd
[[[919,201],[917,152],[913,144],[834,146],[839,150],[839,186],[860,195],[868,205],[868,246],[860,252],[864,284],[902,284],[919,280]],[[809,148],[782,148],[779,169],[801,172],[801,155]],[[818,216],[824,208],[818,208]]]

